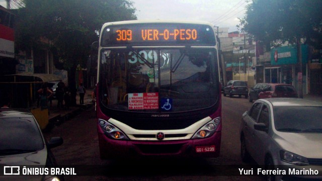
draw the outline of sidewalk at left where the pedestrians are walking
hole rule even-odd
[[[70,106],[69,109],[57,108],[57,100],[52,100],[52,107],[49,108],[48,129],[60,125],[62,122],[76,116],[82,110],[92,107],[94,105],[92,102],[92,92],[93,89],[86,89],[83,105],[79,105],[79,95],[77,95],[76,106]]]

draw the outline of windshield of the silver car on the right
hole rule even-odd
[[[322,132],[322,107],[274,107],[274,124],[277,131]]]

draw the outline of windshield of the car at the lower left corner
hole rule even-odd
[[[33,118],[0,119],[0,155],[21,154],[44,148]]]

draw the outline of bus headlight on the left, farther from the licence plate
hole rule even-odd
[[[123,131],[121,131],[113,124],[103,119],[99,119],[99,124],[103,129],[105,135],[108,136],[109,138],[118,139],[118,140],[128,140],[128,137],[123,133]]]

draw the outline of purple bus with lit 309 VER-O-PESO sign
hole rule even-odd
[[[218,157],[218,47],[209,23],[104,24],[96,88],[101,158]]]

